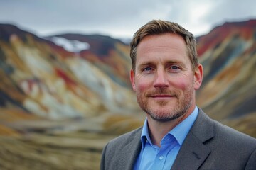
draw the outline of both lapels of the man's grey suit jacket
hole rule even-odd
[[[203,113],[201,108],[198,109],[198,117],[190,132],[188,132],[171,170],[198,169],[211,152],[204,143],[214,137],[213,120],[211,120],[206,113]],[[123,159],[124,162],[122,162],[123,167],[125,167],[124,170],[133,169],[139,152],[142,149],[142,142],[140,140],[141,133],[142,128],[139,128],[132,139],[127,142],[127,145],[124,145],[123,149],[129,151],[123,152],[125,155],[121,155],[121,157],[125,158]]]

